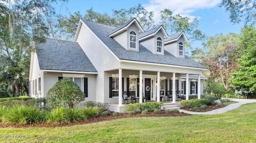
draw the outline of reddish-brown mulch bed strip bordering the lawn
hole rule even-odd
[[[182,110],[187,111],[193,111],[193,112],[207,112],[218,108],[223,108],[225,105],[214,105],[214,106],[208,106],[205,110],[199,109],[197,111],[193,111],[192,108],[181,108]],[[100,121],[110,121],[113,119],[121,119],[121,118],[134,118],[134,117],[180,117],[180,116],[190,116],[191,114],[186,113],[170,113],[166,114],[165,111],[161,111],[161,114],[154,114],[154,112],[148,112],[148,114],[141,114],[137,113],[135,115],[129,115],[128,113],[120,113],[119,116],[106,116],[106,117],[96,117],[96,118],[90,118],[85,121],[76,121],[72,123],[63,123],[63,124],[56,124],[56,123],[34,123],[31,125],[20,125],[20,124],[10,124],[10,123],[2,123],[0,121],[0,127],[64,127],[64,126],[72,126],[72,125],[84,125],[88,123],[96,123]]]

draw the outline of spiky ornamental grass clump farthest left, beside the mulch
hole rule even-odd
[[[43,121],[44,114],[38,110],[36,106],[14,105],[4,114],[2,114],[2,122],[17,124],[32,124]]]

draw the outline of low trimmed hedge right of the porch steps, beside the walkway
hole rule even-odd
[[[207,105],[208,103],[208,99],[182,100],[180,106],[183,106],[184,108],[193,108],[195,106],[200,107],[201,105]]]

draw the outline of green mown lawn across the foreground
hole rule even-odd
[[[219,115],[126,118],[72,127],[0,128],[1,135],[27,135],[0,142],[254,143],[256,103]]]

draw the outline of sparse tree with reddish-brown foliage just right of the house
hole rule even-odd
[[[208,68],[205,73],[208,77],[207,89],[213,82],[220,82],[226,89],[230,90],[229,78],[232,77],[230,73],[233,69],[238,69],[236,60],[240,57],[240,54],[237,53],[237,40],[238,35],[235,33],[228,35],[220,33],[208,37],[201,49],[192,51],[192,58],[197,59]]]

